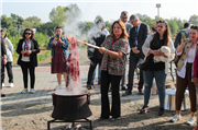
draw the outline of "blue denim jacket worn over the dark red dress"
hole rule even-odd
[[[53,39],[54,39],[54,37],[52,37],[52,38],[50,39],[50,42],[48,42],[48,47],[52,48],[52,58],[53,58],[53,56],[54,56],[54,46],[55,46],[55,45],[53,44]],[[67,59],[67,58],[68,58],[68,55],[69,55],[68,42],[67,42],[66,38],[63,38],[63,37],[62,37],[62,42],[63,42],[63,44],[62,44],[63,54],[64,54],[65,59]]]

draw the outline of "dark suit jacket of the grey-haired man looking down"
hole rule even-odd
[[[131,56],[138,55],[140,58],[144,58],[144,54],[142,52],[142,46],[144,45],[145,39],[147,38],[147,35],[150,34],[150,26],[147,24],[141,23],[139,33],[138,33],[138,49],[140,50],[139,54],[133,54],[131,50]],[[130,47],[133,48],[135,47],[134,42],[135,42],[135,27],[133,26],[130,29]]]

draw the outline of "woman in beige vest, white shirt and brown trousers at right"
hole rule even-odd
[[[186,87],[188,86],[190,98],[190,111],[191,116],[186,122],[187,125],[194,125],[196,122],[195,113],[196,108],[196,86],[193,82],[193,63],[198,50],[198,26],[193,25],[190,27],[189,39],[182,38],[182,44],[176,50],[176,55],[180,56],[177,63],[177,90],[176,90],[176,115],[170,119],[172,122],[182,119],[180,107],[184,99]]]

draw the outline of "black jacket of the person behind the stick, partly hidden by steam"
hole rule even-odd
[[[106,35],[102,34],[102,33],[99,33],[98,35],[99,35],[99,37],[94,37],[94,36],[90,37],[88,43],[101,47],[101,44],[106,39]],[[92,60],[92,59],[95,59],[95,60],[102,60],[103,55],[100,54],[98,49],[92,48],[92,47],[88,47],[87,51],[88,51],[88,58],[90,60]]]

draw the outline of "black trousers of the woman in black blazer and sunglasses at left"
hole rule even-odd
[[[23,73],[23,83],[24,83],[24,88],[28,88],[28,70],[30,72],[30,78],[31,78],[31,88],[34,88],[34,83],[35,83],[35,67],[32,67],[30,62],[21,62],[21,70]]]

